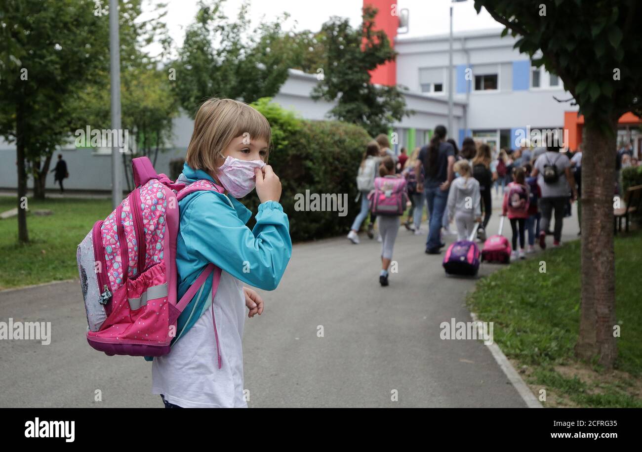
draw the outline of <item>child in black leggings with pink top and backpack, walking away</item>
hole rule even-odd
[[[506,187],[504,203],[502,205],[503,215],[508,215],[510,227],[513,229],[513,252],[510,259],[514,261],[525,259],[524,253],[524,232],[525,222],[528,218],[528,204],[530,193],[525,181],[525,170],[521,166],[513,170],[513,182]],[[519,234],[519,254],[517,254],[517,235]]]

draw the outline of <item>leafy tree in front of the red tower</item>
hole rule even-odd
[[[323,24],[324,79],[313,91],[317,100],[338,99],[331,116],[363,126],[372,136],[388,132],[392,123],[411,114],[398,87],[370,83],[369,72],[396,56],[385,31],[374,30],[376,13],[371,6],[363,8],[358,29],[340,17]]]

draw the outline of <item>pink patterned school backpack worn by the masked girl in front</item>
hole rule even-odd
[[[94,224],[76,251],[87,342],[109,356],[162,356],[196,291],[214,272],[214,296],[221,276],[221,269],[209,264],[177,301],[178,200],[223,188],[209,180],[174,183],[157,174],[147,157],[133,159],[132,167],[136,188]]]

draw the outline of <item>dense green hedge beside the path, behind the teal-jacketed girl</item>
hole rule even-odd
[[[272,148],[268,163],[281,179],[281,204],[290,218],[292,241],[333,237],[346,233],[359,212],[354,202],[358,193],[356,174],[370,136],[360,126],[340,121],[308,121],[282,109],[269,98],[252,104],[270,122]],[[169,162],[171,178],[176,180],[183,168],[183,159]],[[295,211],[298,193],[341,195],[345,216],[329,211]],[[347,198],[343,196],[347,194]],[[241,200],[253,213],[259,198],[256,191]],[[248,223],[254,226],[254,217]]]

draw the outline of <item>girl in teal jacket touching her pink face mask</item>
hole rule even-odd
[[[153,360],[152,393],[168,408],[247,407],[245,309],[248,317],[261,315],[263,299],[242,283],[274,290],[292,250],[288,216],[279,204],[281,182],[266,165],[270,135],[265,117],[236,100],[207,100],[196,114],[178,182],[207,180],[223,193],[196,191],[178,202],[178,298],[209,263],[221,275],[214,297],[209,277],[178,318],[171,352]],[[261,204],[250,230],[245,223],[252,213],[236,198],[255,184]]]

